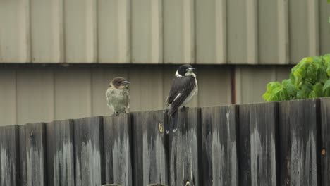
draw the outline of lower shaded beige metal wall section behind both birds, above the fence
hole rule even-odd
[[[199,92],[189,106],[262,101],[267,82],[288,77],[286,66],[196,66]],[[163,109],[177,66],[0,66],[0,125],[106,116],[105,91],[116,76],[128,77],[130,111]],[[234,78],[234,79],[233,79]],[[235,80],[233,82],[233,80]]]

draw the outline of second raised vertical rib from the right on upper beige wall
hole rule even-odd
[[[279,0],[277,1],[277,30],[278,30],[278,50],[279,50],[279,61],[280,64],[289,63],[289,39],[288,39],[288,1]]]

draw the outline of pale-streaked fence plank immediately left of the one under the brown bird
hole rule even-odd
[[[73,120],[75,185],[99,186],[104,180],[102,117]]]

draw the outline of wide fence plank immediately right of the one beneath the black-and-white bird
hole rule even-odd
[[[202,185],[238,185],[238,106],[205,107],[202,118]]]

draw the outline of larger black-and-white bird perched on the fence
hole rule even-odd
[[[195,68],[190,65],[183,65],[176,70],[176,75],[172,82],[169,97],[166,101],[168,116],[172,117],[174,113],[193,98],[198,91],[197,79],[194,73]]]

